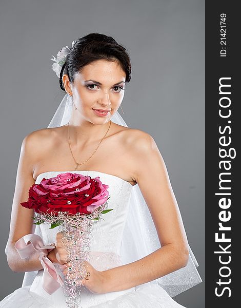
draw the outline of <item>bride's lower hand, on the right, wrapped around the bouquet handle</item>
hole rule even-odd
[[[102,294],[106,293],[105,285],[106,285],[106,276],[105,271],[97,271],[88,261],[83,262],[86,271],[90,273],[89,276],[83,278],[81,280],[81,284],[86,286],[90,292],[94,294]],[[68,267],[72,265],[71,261],[63,264],[61,267],[64,269],[63,274],[66,276],[68,273]],[[75,279],[77,274],[73,273],[70,275],[72,279]]]

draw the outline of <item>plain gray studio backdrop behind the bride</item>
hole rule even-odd
[[[119,112],[155,139],[205,280],[204,0],[1,0],[1,299],[23,279],[4,253],[21,143],[48,126],[63,97],[52,54],[90,32],[112,35],[130,53],[132,80]],[[204,307],[204,282],[174,299]]]

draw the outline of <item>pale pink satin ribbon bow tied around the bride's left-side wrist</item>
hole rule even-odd
[[[48,252],[54,249],[53,245],[44,245],[42,238],[37,234],[27,234],[17,240],[14,247],[21,259],[29,257],[34,252],[39,253],[39,261],[44,268],[42,285],[48,294],[54,293],[63,285],[62,277],[59,276],[54,264],[47,257]]]

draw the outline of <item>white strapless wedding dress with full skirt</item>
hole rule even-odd
[[[123,265],[120,248],[125,221],[128,214],[128,201],[133,186],[110,174],[99,171],[47,171],[39,174],[35,184],[43,178],[51,178],[59,173],[73,172],[99,177],[109,185],[108,208],[113,208],[94,225],[90,246],[90,263],[98,271]],[[35,234],[42,237],[44,244],[55,242],[58,228],[50,229],[47,224],[36,225]],[[65,295],[62,288],[49,295],[42,287],[43,269],[36,272],[26,272],[22,287],[6,296],[0,302],[0,308],[66,308]],[[33,276],[34,274],[34,276]],[[127,277],[128,279],[128,277]],[[81,295],[83,308],[185,308],[158,285],[155,281],[144,283],[128,290],[93,294],[86,287]]]

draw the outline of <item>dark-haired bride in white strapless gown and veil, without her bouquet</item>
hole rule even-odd
[[[61,264],[66,275],[71,260],[62,234],[44,225],[33,229],[33,211],[20,206],[30,186],[61,172],[99,176],[109,185],[110,208],[116,209],[96,224],[92,252],[103,255],[85,262],[89,275],[82,280],[81,306],[184,307],[171,296],[202,280],[155,141],[142,130],[120,125],[117,109],[131,79],[126,49],[110,36],[90,33],[72,48],[63,47],[52,60],[66,92],[59,106],[64,112],[58,108],[47,129],[23,140],[6,255],[12,271],[26,275],[23,286],[0,307],[67,307],[61,288],[52,295],[43,290],[39,255],[21,259],[15,248],[18,239],[34,232],[45,243],[54,241],[48,259]]]

